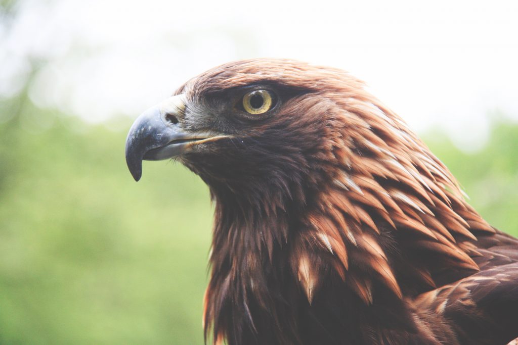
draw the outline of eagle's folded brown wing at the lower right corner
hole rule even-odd
[[[498,345],[516,338],[518,263],[483,270],[411,301],[416,313],[448,325],[461,344]]]

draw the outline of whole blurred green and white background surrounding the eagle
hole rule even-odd
[[[133,119],[227,61],[351,71],[518,235],[518,2],[0,1],[0,344],[201,344],[212,208]]]

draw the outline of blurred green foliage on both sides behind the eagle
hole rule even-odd
[[[180,164],[126,169],[129,119],[92,126],[0,102],[0,343],[201,344],[212,209]],[[471,203],[518,235],[518,126],[476,154],[426,142]]]

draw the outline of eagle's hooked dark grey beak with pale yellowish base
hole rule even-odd
[[[173,158],[203,143],[224,136],[192,133],[181,128],[185,95],[177,95],[149,108],[133,123],[126,138],[126,163],[135,181],[142,175],[142,160]]]

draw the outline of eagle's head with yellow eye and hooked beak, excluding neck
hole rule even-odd
[[[219,66],[137,119],[126,141],[128,168],[138,181],[143,159],[174,158],[215,189],[304,201],[333,181],[333,166],[352,163],[347,151],[359,138],[348,133],[370,125],[346,113],[374,101],[362,86],[341,70],[284,59]]]

